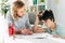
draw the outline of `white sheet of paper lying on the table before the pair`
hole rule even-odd
[[[41,39],[41,38],[46,38],[47,37],[47,33],[32,33],[31,35],[16,35],[16,38],[24,38],[24,39]]]

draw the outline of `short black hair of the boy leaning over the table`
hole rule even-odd
[[[53,12],[50,10],[46,10],[44,13],[42,14],[42,16],[39,17],[40,20],[47,20],[47,19],[53,19],[54,22],[54,15]]]

